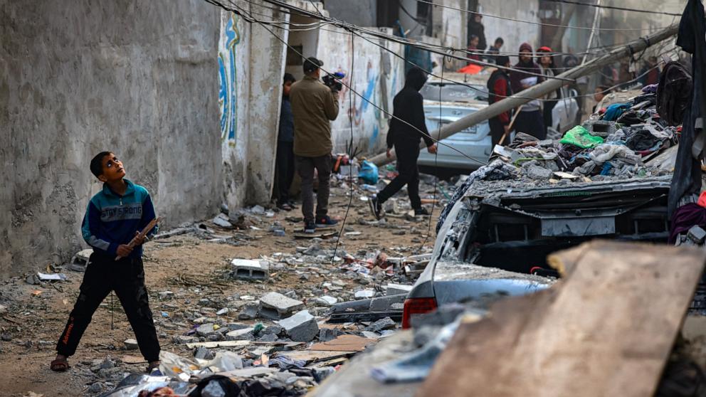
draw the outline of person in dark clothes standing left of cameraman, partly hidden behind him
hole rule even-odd
[[[293,205],[289,197],[289,189],[294,179],[294,117],[289,92],[297,80],[290,73],[285,73],[282,84],[282,110],[280,111],[280,130],[277,138],[277,208],[292,211]]]

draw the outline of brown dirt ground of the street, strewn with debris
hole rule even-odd
[[[426,241],[426,245],[421,244],[425,240],[428,221],[409,221],[404,216],[404,210],[409,209],[404,192],[398,195],[401,203],[399,213],[403,214],[388,216],[386,224],[382,226],[363,224],[374,221],[374,218],[369,213],[368,203],[362,201],[361,196],[362,192],[354,196],[354,206],[344,228],[344,233],[349,235],[342,237],[339,250],[352,255],[382,250],[389,256],[412,255],[431,250],[433,236]],[[431,197],[431,192],[423,194],[425,197]],[[348,198],[342,194],[342,189],[334,189],[330,203],[332,215],[343,217],[347,204]],[[439,209],[437,206],[436,213]],[[299,299],[306,302],[315,297],[315,293],[321,293],[322,282],[342,275],[339,265],[331,263],[312,268],[307,263],[290,265],[283,262],[290,258],[292,263],[292,258],[297,258],[297,247],[306,248],[315,243],[312,240],[293,238],[293,231],[300,229],[302,223],[287,221],[285,218],[300,216],[298,208],[295,211],[275,213],[272,218],[258,216],[260,221],[255,227],[260,230],[251,228],[245,231],[228,231],[218,228],[210,220],[203,222],[216,235],[235,235],[236,243],[241,245],[223,243],[222,240],[209,241],[203,235],[194,233],[147,243],[144,249],[144,270],[162,349],[192,356],[192,351],[183,345],[174,344],[172,337],[189,331],[194,325],[189,319],[196,314],[215,316],[214,312],[219,305],[227,305],[231,307],[230,312],[219,318],[226,322],[239,322],[237,307],[245,301],[238,301],[238,297],[251,295],[258,298],[270,291],[296,290]],[[285,226],[285,236],[275,237],[268,231],[274,221]],[[432,233],[435,225],[431,224]],[[360,234],[357,235],[357,232]],[[336,243],[334,240],[322,240],[318,244],[322,249],[332,249]],[[282,255],[275,257],[275,253]],[[274,259],[275,262],[277,258],[282,260],[278,264],[279,268],[270,270],[270,280],[248,282],[228,277],[229,264],[233,258],[250,259],[259,258],[260,255]],[[46,272],[46,265],[37,263],[36,270]],[[3,385],[0,396],[95,396],[112,390],[115,379],[120,379],[125,369],[140,372],[146,366],[144,362],[139,362],[142,361],[139,351],[125,349],[125,339],[135,336],[117,299],[114,301],[114,317],[111,319],[108,297],[93,316],[93,322],[85,332],[77,353],[70,357],[70,370],[66,373],[49,370],[49,361],[56,354],[56,339],[78,296],[78,287],[83,277],[83,273],[65,267],[59,270],[68,276],[67,281],[30,285],[26,277],[14,277],[0,285],[0,304],[8,308],[5,313],[0,313],[0,385]],[[347,291],[370,287],[362,285],[356,278],[341,280]],[[173,292],[173,295],[168,296],[167,291]],[[160,292],[163,293],[160,295]],[[213,307],[199,307],[204,299],[216,303],[211,305]],[[252,324],[256,321],[241,322]],[[113,328],[111,322],[114,323]],[[100,369],[100,363],[105,359],[114,361],[120,369]]]

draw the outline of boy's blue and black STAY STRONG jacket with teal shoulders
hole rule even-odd
[[[107,184],[103,184],[88,202],[83,216],[81,233],[83,239],[93,250],[104,255],[116,256],[117,246],[130,243],[135,231],[142,231],[149,221],[156,218],[149,193],[144,187],[123,179],[127,184],[125,194],[115,193]],[[155,226],[147,235],[157,233]],[[142,245],[135,247],[130,258],[142,256]]]

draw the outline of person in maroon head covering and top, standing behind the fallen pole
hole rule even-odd
[[[532,52],[530,44],[522,43],[518,57],[520,60],[515,65],[515,70],[510,72],[510,85],[512,86],[512,92],[515,92],[515,94],[544,81],[544,78],[541,77],[542,70],[532,59]],[[522,106],[515,120],[515,131],[525,132],[525,134],[530,134],[537,139],[545,139],[547,137],[547,130],[544,129],[542,117],[542,103],[539,100],[532,100]]]

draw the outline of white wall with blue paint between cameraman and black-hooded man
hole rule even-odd
[[[383,29],[391,33],[391,29]],[[392,113],[392,98],[404,86],[404,60],[393,53],[404,56],[404,50],[397,43],[370,40],[373,43],[354,36],[351,42],[351,35],[342,29],[320,30],[317,58],[330,72],[346,73],[344,81],[366,99],[343,88],[339,116],[332,122],[334,152],[345,152],[346,144],[351,142],[351,119],[353,147],[368,155],[385,148],[389,117],[370,102]]]

